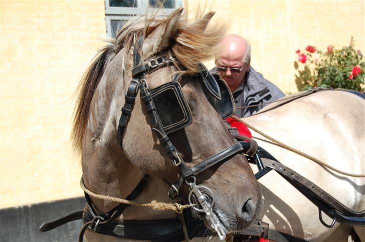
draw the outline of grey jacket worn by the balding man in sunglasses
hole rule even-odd
[[[216,72],[216,68],[211,70]],[[266,106],[266,102],[274,101],[285,94],[273,83],[264,78],[252,66],[246,72],[246,80],[232,94],[236,104],[236,115],[238,117],[250,116]],[[249,106],[255,104],[263,104],[259,106],[239,108],[241,106]]]

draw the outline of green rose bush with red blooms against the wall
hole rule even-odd
[[[349,46],[340,49],[328,45],[324,52],[307,45],[304,52],[295,52],[300,65],[304,64],[296,75],[302,90],[318,86],[364,91],[365,62],[361,51],[354,49],[352,37]],[[296,66],[300,66],[298,62],[295,61]]]

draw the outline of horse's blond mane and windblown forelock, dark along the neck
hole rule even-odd
[[[174,57],[174,64],[179,70],[198,72],[198,63],[214,57],[217,45],[226,33],[227,26],[223,22],[216,21],[207,28],[204,23],[200,24],[198,20],[202,18],[203,12],[198,11],[192,20],[187,20],[187,13],[180,16],[178,29],[167,50],[167,54]],[[146,38],[165,21],[166,16],[160,15],[158,11],[135,16],[118,28],[116,38],[108,39],[108,44],[98,51],[77,88],[78,98],[71,135],[76,150],[82,148],[91,99],[106,66],[121,49],[130,53],[139,36],[144,35]],[[128,54],[124,56],[124,71],[131,69],[128,61],[130,57]]]

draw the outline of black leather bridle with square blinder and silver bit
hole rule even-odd
[[[142,46],[143,36],[141,36],[138,40],[139,47]],[[201,161],[199,164],[189,168],[179,155],[178,150],[173,145],[171,140],[168,137],[169,133],[172,133],[182,127],[189,125],[192,122],[192,115],[190,113],[189,105],[186,103],[184,95],[182,95],[181,87],[178,82],[172,80],[167,82],[161,86],[158,86],[154,89],[149,89],[147,80],[145,78],[145,74],[152,72],[163,65],[168,65],[172,62],[172,59],[167,58],[167,56],[161,56],[159,58],[150,59],[145,61],[142,64],[140,62],[140,55],[137,51],[136,44],[134,46],[134,54],[133,54],[133,63],[134,68],[132,69],[132,77],[133,79],[130,81],[127,93],[125,95],[125,103],[122,107],[122,113],[119,119],[118,125],[118,142],[121,145],[123,139],[123,132],[125,126],[128,122],[128,117],[132,112],[133,103],[135,97],[138,93],[138,89],[140,90],[140,98],[144,102],[144,108],[147,111],[150,119],[150,126],[154,131],[155,135],[158,137],[160,144],[163,145],[164,150],[166,151],[168,157],[171,159],[172,164],[174,166],[179,166],[181,169],[181,173],[177,179],[176,184],[172,184],[171,188],[168,192],[169,197],[175,199],[179,194],[179,189],[184,184],[184,181],[190,186],[189,193],[189,202],[190,204],[199,204],[197,206],[193,206],[193,208],[199,212],[205,213],[205,217],[211,223],[211,226],[215,228],[219,237],[221,239],[225,238],[225,232],[222,227],[222,224],[219,222],[217,215],[213,212],[213,205],[215,202],[214,194],[210,188],[203,185],[196,184],[196,175],[201,173],[202,171],[208,169],[209,167],[222,163],[229,160],[232,156],[242,153],[243,148],[239,142],[234,143],[233,145],[225,148],[219,153]],[[207,74],[207,73],[205,73]],[[214,87],[213,87],[214,88]],[[168,89],[168,91],[167,91]],[[182,110],[181,118],[177,121],[177,123],[170,123],[168,126],[172,126],[172,128],[166,128],[166,123],[171,120],[166,119],[166,117],[160,116],[161,108],[159,106],[159,98],[156,93],[159,94],[168,94],[169,97],[172,98],[172,103],[177,109]],[[161,94],[161,95],[162,95]],[[220,94],[220,93],[219,93]],[[176,98],[176,99],[175,99]],[[170,113],[173,116],[173,114]],[[172,118],[173,119],[173,118]],[[165,121],[166,123],[163,123]]]

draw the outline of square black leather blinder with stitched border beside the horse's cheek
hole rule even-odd
[[[178,82],[169,81],[150,90],[150,94],[166,134],[192,123],[192,113]]]

